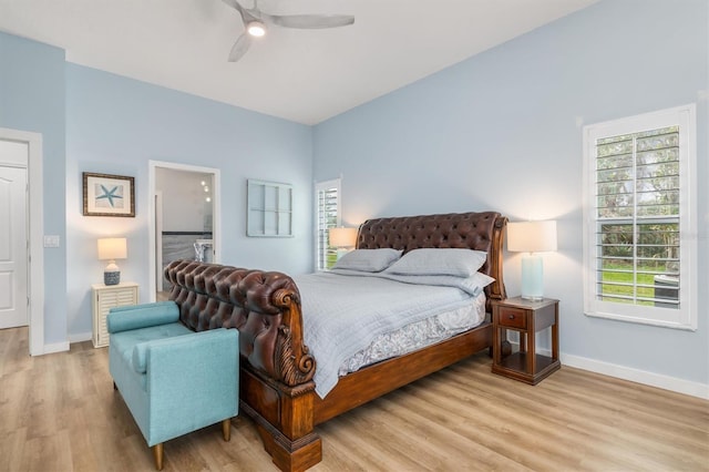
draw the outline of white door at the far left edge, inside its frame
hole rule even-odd
[[[0,329],[28,325],[27,170],[0,166]]]

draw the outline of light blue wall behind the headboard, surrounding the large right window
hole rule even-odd
[[[709,11],[706,0],[602,1],[315,127],[316,181],[342,175],[343,220],[496,209],[558,220],[545,256],[563,353],[709,383]],[[586,317],[582,126],[697,103],[699,329]],[[506,284],[518,293],[520,256]]]

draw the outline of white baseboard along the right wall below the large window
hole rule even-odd
[[[516,342],[511,343],[513,345],[513,350],[516,351],[518,349],[518,345]],[[537,349],[537,352],[544,356],[552,356],[552,351],[548,349]],[[616,363],[603,362],[585,357],[565,355],[564,352],[559,352],[559,360],[562,361],[562,366],[584,369],[590,372],[615,377],[617,379],[629,380],[631,382],[643,383],[645,386],[657,387],[659,389],[709,400],[709,384],[664,376],[661,373],[648,372],[646,370],[633,369],[625,366],[618,366]]]

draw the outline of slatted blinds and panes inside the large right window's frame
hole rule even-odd
[[[596,296],[679,308],[678,126],[596,141]]]

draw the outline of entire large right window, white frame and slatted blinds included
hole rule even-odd
[[[584,309],[697,329],[696,107],[584,127]]]

